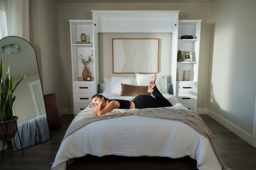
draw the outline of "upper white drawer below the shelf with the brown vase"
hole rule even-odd
[[[94,82],[73,82],[73,92],[91,92],[95,95]]]

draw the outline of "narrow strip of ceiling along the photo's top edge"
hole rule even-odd
[[[57,3],[214,3],[217,0],[55,0]]]

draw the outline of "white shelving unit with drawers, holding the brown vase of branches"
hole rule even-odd
[[[69,20],[70,22],[70,44],[71,44],[71,61],[72,61],[72,79],[73,79],[73,100],[74,114],[78,114],[86,108],[91,101],[91,97],[97,93],[99,83],[98,76],[98,58],[95,57],[94,36],[92,20]],[[81,41],[81,33],[87,36],[86,41],[92,44],[76,44]],[[84,65],[79,56],[89,57],[93,54],[93,62],[88,66],[92,81],[78,81],[77,78],[82,76]]]

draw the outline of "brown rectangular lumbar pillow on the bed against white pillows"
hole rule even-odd
[[[148,93],[148,86],[134,86],[130,84],[121,83],[121,87],[121,96],[150,95]]]

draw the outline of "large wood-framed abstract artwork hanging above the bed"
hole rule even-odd
[[[113,38],[113,74],[158,73],[159,38]]]

